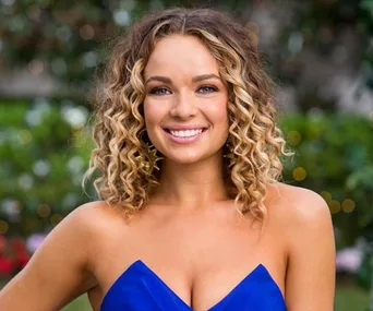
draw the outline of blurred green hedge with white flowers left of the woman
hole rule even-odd
[[[81,189],[92,148],[83,132],[88,111],[43,98],[0,107],[0,215],[9,235],[27,236],[88,199]]]

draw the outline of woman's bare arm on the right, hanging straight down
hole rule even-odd
[[[298,189],[288,217],[288,311],[333,311],[335,240],[329,208],[316,193]]]

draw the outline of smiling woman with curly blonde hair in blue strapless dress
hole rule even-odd
[[[1,310],[329,311],[335,247],[317,194],[276,181],[288,155],[250,33],[212,10],[137,22],[116,46],[72,212],[1,291]]]

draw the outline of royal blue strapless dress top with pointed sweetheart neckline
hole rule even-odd
[[[100,311],[193,311],[144,262],[131,264],[105,295]],[[260,264],[207,311],[286,311],[280,289]]]

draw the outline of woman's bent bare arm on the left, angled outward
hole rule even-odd
[[[95,286],[87,267],[93,239],[88,205],[64,218],[26,267],[0,291],[0,310],[59,310]]]

